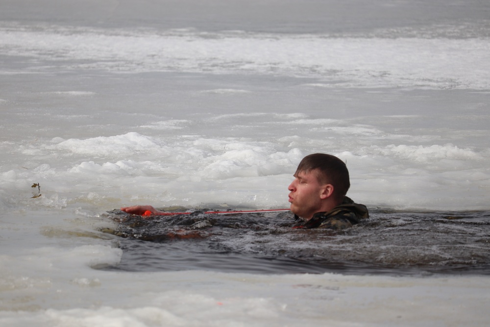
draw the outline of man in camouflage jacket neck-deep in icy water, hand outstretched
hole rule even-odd
[[[345,196],[350,187],[349,172],[339,158],[324,153],[301,160],[288,189],[295,228],[343,229],[368,218],[368,209]],[[162,213],[151,205],[123,207],[122,211],[143,215]]]

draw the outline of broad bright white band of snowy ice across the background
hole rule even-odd
[[[319,77],[343,87],[490,88],[485,38],[0,28],[0,50],[65,69]],[[229,93],[241,90],[217,89]]]

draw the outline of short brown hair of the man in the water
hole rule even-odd
[[[301,160],[294,175],[315,170],[319,182],[332,184],[335,199],[342,201],[350,187],[349,171],[345,163],[331,154],[314,153]]]

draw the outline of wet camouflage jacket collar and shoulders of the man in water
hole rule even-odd
[[[364,204],[354,203],[345,197],[343,202],[327,212],[317,212],[305,222],[294,215],[297,224],[294,228],[344,229],[356,225],[361,219],[369,218],[368,208]]]

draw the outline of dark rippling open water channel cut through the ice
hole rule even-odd
[[[293,229],[288,212],[158,216],[120,211],[122,261],[110,270],[259,274],[490,274],[490,212],[371,210],[342,231]]]

